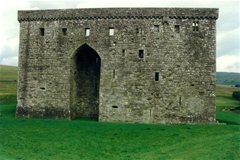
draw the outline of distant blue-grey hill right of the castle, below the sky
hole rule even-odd
[[[216,80],[217,84],[240,85],[240,73],[217,72]]]

